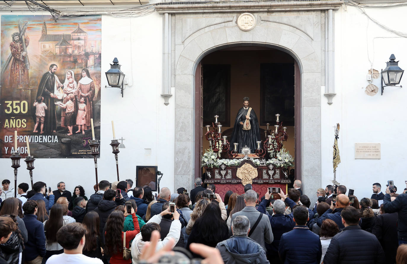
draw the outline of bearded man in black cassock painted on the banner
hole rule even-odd
[[[41,78],[41,81],[38,85],[37,96],[44,97],[44,103],[48,107],[48,110],[45,110],[45,122],[44,122],[44,131],[45,132],[56,132],[57,130],[57,112],[55,108],[55,100],[58,99],[55,95],[55,87],[63,87],[63,84],[56,82],[55,73],[57,72],[58,66],[56,64],[51,64],[49,71],[47,71]],[[35,113],[35,110],[33,111]],[[35,119],[34,119],[35,120]],[[70,200],[68,200],[70,201]]]

